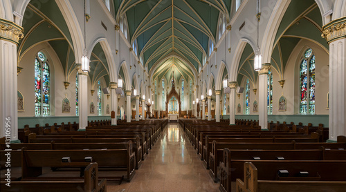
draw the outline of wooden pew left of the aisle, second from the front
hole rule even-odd
[[[92,157],[93,162],[98,162],[99,168],[117,168],[127,171],[127,182],[135,174],[135,153],[131,150],[131,141],[128,142],[127,149],[91,149],[91,150],[21,150],[21,177],[28,180],[28,177],[42,175],[42,167],[50,166],[55,168],[79,167],[81,162],[85,164],[84,157]],[[62,162],[62,157],[70,157],[71,163]],[[111,180],[119,180],[119,177],[107,177]]]

